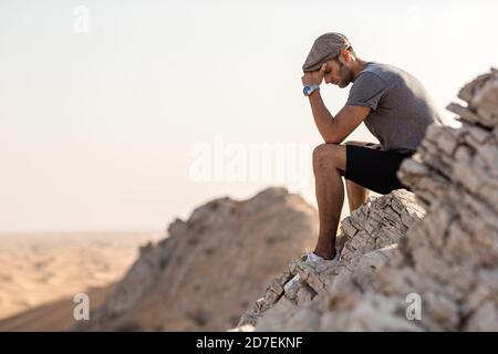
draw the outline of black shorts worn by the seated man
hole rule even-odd
[[[385,152],[365,146],[346,145],[345,179],[370,190],[386,195],[394,189],[405,188],[396,177],[401,163],[415,152]]]

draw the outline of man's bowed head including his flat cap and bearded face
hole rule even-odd
[[[341,33],[325,33],[320,35],[313,43],[302,70],[312,72],[320,70],[326,63],[324,80],[342,87],[347,86],[353,80],[352,65],[356,55],[350,41]]]

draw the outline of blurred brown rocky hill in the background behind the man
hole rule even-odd
[[[311,248],[315,208],[283,188],[212,200],[141,256],[80,331],[225,331],[288,260]]]

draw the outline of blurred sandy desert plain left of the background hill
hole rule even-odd
[[[163,232],[89,232],[0,236],[0,331],[60,331],[74,323],[74,294],[102,303]]]

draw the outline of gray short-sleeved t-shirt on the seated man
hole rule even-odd
[[[424,85],[407,72],[369,62],[356,76],[346,105],[372,108],[364,123],[383,150],[416,150],[427,126],[445,125]]]

